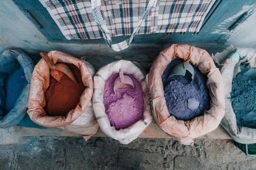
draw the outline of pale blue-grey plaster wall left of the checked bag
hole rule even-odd
[[[0,5],[0,38],[5,46],[23,48],[30,53],[40,50],[65,50],[84,52],[83,45],[50,43],[35,25],[17,8],[13,1],[1,1]]]

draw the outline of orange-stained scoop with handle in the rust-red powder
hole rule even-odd
[[[46,52],[40,52],[41,57],[45,60],[45,62],[48,64],[48,66],[51,69],[51,76],[57,80],[60,81],[61,77],[64,74],[67,74],[67,76],[74,82],[78,83],[76,76],[72,73],[70,67],[67,66],[67,64],[63,63],[57,63],[54,65],[52,63],[52,60],[48,57]]]

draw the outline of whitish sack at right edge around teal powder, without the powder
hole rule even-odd
[[[232,80],[241,71],[240,64],[248,64],[248,66],[255,68],[256,48],[237,48],[221,64],[220,71],[225,86],[225,117],[221,121],[221,125],[235,141],[239,143],[256,143],[256,129],[237,126],[236,115],[230,101]]]

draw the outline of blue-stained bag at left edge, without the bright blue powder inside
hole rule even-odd
[[[9,108],[8,113],[2,113],[0,117],[0,127],[1,128],[8,128],[14,125],[19,124],[20,120],[24,118],[27,111],[28,106],[28,96],[29,96],[29,87],[30,87],[30,79],[31,74],[33,73],[33,61],[26,55],[26,53],[22,52],[21,50],[5,50],[0,56],[0,76],[1,76],[1,108],[6,101],[5,92],[3,89],[4,83],[6,78],[10,76],[14,71],[17,71],[19,67],[23,70],[25,79],[27,81],[26,85],[24,86],[19,98],[13,105],[13,107]],[[5,108],[6,109],[6,108]],[[2,110],[2,112],[4,112]]]

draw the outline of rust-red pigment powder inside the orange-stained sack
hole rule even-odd
[[[85,89],[80,70],[74,64],[67,65],[79,83],[72,81],[66,74],[61,77],[60,81],[50,76],[50,85],[45,92],[45,110],[46,114],[51,117],[65,117],[70,110],[76,108]]]

